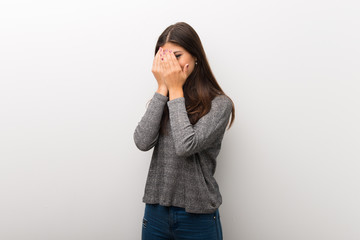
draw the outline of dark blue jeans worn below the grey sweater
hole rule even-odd
[[[146,204],[142,240],[222,240],[219,209],[210,214]]]

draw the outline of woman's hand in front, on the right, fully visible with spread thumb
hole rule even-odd
[[[174,53],[171,50],[165,50],[160,55],[162,78],[169,90],[170,100],[183,97],[183,85],[189,76],[188,69],[189,64],[181,69],[179,62],[177,61]]]

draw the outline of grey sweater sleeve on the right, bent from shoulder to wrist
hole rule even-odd
[[[185,98],[168,103],[171,132],[178,156],[189,156],[209,148],[221,137],[228,125],[232,102],[227,96],[213,99],[210,111],[192,125],[186,112]]]

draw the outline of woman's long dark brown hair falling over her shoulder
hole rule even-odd
[[[177,44],[197,59],[194,70],[183,86],[186,111],[191,124],[195,124],[211,108],[211,101],[218,95],[226,95],[211,71],[204,48],[195,30],[185,22],[178,22],[167,27],[159,36],[155,47],[155,55],[165,43]],[[234,103],[232,106],[229,128],[235,119]],[[161,119],[161,133],[166,133],[169,121],[167,104]]]

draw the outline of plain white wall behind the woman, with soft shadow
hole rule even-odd
[[[236,105],[227,240],[360,239],[358,1],[0,2],[0,239],[140,239],[132,134],[185,21]]]

